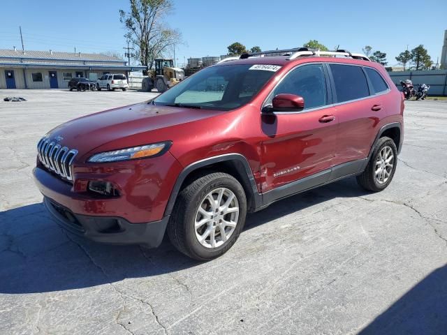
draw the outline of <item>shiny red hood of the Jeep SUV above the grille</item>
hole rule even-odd
[[[54,128],[48,135],[50,139],[61,137],[59,144],[69,149],[77,149],[81,157],[97,147],[104,147],[105,144],[110,144],[106,147],[120,149],[170,140],[156,138],[154,133],[159,129],[207,119],[222,113],[224,112],[217,110],[138,103],[68,121]]]

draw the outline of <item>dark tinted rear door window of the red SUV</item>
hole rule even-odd
[[[329,67],[334,78],[337,102],[369,96],[365,73],[360,66],[330,64]]]

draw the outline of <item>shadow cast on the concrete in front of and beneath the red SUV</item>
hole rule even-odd
[[[251,214],[247,230],[332,198],[365,195],[346,179],[295,195]],[[167,238],[159,248],[108,246],[67,234],[43,204],[0,212],[0,293],[21,294],[86,288],[124,278],[157,276],[200,262],[186,258]]]

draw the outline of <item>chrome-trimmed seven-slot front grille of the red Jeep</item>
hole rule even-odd
[[[48,170],[59,174],[62,178],[73,180],[71,164],[78,154],[78,150],[61,147],[57,142],[43,137],[37,144],[39,161]]]

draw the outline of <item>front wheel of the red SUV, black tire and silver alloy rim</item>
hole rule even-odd
[[[206,198],[207,195],[212,193],[213,199],[217,201],[221,190],[221,206],[219,209],[214,211],[212,206],[207,208],[207,204],[211,205],[209,198]],[[233,198],[231,198],[231,194],[234,195]],[[223,211],[218,211],[227,200],[230,201],[227,209],[229,211],[233,210],[222,216]],[[233,207],[230,207],[231,205]],[[198,211],[199,207],[206,213],[212,214],[214,218],[208,214],[207,216],[200,214]],[[216,208],[215,203],[214,208]],[[237,213],[234,210],[235,208],[238,209]],[[179,193],[173,208],[173,214],[168,223],[168,236],[175,248],[190,258],[200,261],[212,260],[226,253],[235,244],[244,228],[246,215],[247,198],[245,197],[244,188],[242,188],[239,181],[230,176],[230,174],[223,172],[205,172],[186,185]],[[200,225],[196,231],[196,221],[200,222],[204,219],[206,222]],[[233,223],[231,226],[223,226],[223,232],[226,236],[225,240],[219,228],[222,227],[222,223],[220,223],[222,221]],[[210,230],[208,235],[206,234],[207,230]],[[205,236],[203,242],[199,241],[200,234]],[[210,239],[210,241],[207,241],[207,239]]]

